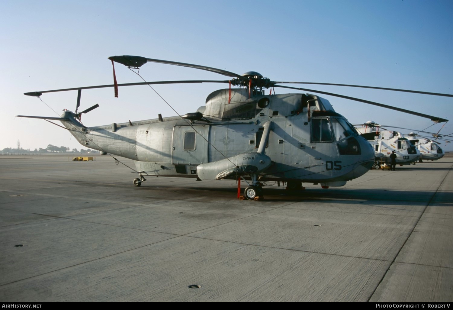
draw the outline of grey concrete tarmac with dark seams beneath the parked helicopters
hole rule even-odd
[[[0,156],[2,302],[453,300],[451,154],[264,201],[69,156]]]

